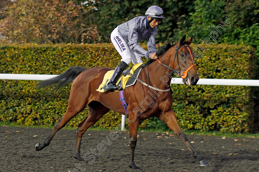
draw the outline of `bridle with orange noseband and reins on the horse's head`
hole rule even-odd
[[[177,43],[177,44],[178,44],[178,43]],[[176,44],[176,47],[175,47],[175,57],[176,57],[177,64],[178,64],[178,66],[179,66],[177,50],[179,50],[180,48],[185,47],[185,46],[180,46],[179,48],[177,48],[177,44]],[[190,51],[190,54],[191,54],[191,50],[190,50],[190,48],[189,48],[190,46],[187,46],[187,45],[186,45],[186,47],[188,47],[188,50]],[[192,58],[192,55],[191,55],[191,58]],[[164,63],[160,62],[157,58],[156,58],[156,60],[157,60],[158,63],[160,63],[161,65],[163,65],[163,66],[167,67],[168,69],[170,69],[170,70],[174,71],[175,73],[177,73],[177,74],[178,74],[179,76],[181,76],[183,79],[187,77],[187,72],[191,69],[192,66],[194,66],[194,62],[193,62],[193,65],[191,65],[187,70],[185,70],[185,71],[179,70],[179,71],[178,71],[178,70],[173,69],[173,68],[174,68],[174,63],[175,63],[175,58],[174,58],[174,62],[173,62],[173,67],[169,67],[169,66],[165,65]],[[193,58],[192,58],[192,60],[193,60]]]

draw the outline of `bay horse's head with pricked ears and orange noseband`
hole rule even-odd
[[[185,41],[185,37],[186,35],[174,46],[175,54],[172,55],[171,66],[178,71],[184,84],[193,86],[197,84],[199,76],[194,66],[194,55],[189,46],[192,42],[192,36],[187,41]]]

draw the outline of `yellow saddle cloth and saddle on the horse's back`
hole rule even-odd
[[[124,90],[125,87],[133,86],[137,81],[140,71],[145,66],[146,66],[146,64],[138,63],[138,64],[130,67],[130,69],[124,70],[116,83],[117,86],[120,86],[119,90]],[[111,78],[113,72],[114,72],[114,70],[109,70],[104,75],[103,81],[102,81],[101,85],[99,86],[99,88],[97,89],[97,91],[102,92],[102,93],[106,91],[106,86],[107,86],[108,82],[110,81],[110,78]],[[132,75],[135,77],[132,77]],[[114,91],[119,91],[119,90],[114,90]]]

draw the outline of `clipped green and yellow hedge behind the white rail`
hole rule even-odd
[[[144,45],[143,45],[144,46]],[[197,45],[192,45],[194,49]],[[204,56],[195,59],[200,78],[253,79],[254,53],[245,45],[212,44]],[[0,73],[61,74],[71,66],[116,67],[120,55],[111,44],[25,44],[0,47]],[[143,58],[144,61],[146,59]],[[67,106],[70,87],[47,96],[38,81],[0,80],[0,121],[25,125],[55,125]],[[183,130],[242,132],[253,127],[252,90],[248,86],[171,85],[173,110]],[[77,126],[88,114],[86,108],[67,126]],[[121,114],[110,111],[95,126],[114,128]],[[144,120],[140,127],[168,129],[157,118]]]

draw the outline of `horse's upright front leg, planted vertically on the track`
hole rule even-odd
[[[134,170],[141,170],[134,163],[134,151],[137,143],[137,131],[139,124],[139,117],[136,117],[134,114],[130,114],[129,116],[129,130],[130,130],[130,161],[129,167]]]

